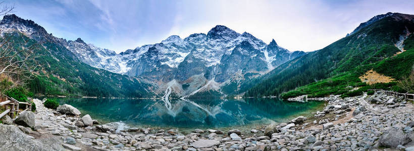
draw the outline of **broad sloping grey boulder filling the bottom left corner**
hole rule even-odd
[[[14,125],[0,124],[0,134],[0,150],[63,150],[60,139],[32,139]]]

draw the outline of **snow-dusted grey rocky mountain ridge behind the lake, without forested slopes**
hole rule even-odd
[[[119,54],[87,44],[81,38],[67,41],[54,37],[33,21],[16,15],[6,15],[0,26],[5,32],[18,31],[36,40],[62,45],[70,50],[71,53],[65,53],[73,59],[92,67],[139,77],[156,86],[158,89],[154,91],[157,94],[164,93],[173,80],[176,81],[171,84],[177,85],[174,86],[177,89],[173,89],[175,94],[187,95],[200,91],[200,88],[220,91],[224,83],[235,80],[240,83],[257,77],[306,54],[303,51],[290,52],[274,40],[266,44],[247,32],[240,34],[222,25],[217,25],[207,34],[195,33],[184,39],[172,35],[161,43],[143,45]],[[214,87],[205,86],[209,81]]]

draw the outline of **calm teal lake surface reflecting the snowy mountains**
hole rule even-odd
[[[233,99],[93,99],[64,98],[60,104],[78,108],[82,115],[104,123],[122,121],[129,125],[220,128],[285,122],[295,116],[309,115],[325,102],[282,101],[277,98]]]

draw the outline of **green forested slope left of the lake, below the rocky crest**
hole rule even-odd
[[[27,37],[25,37],[27,38]],[[14,34],[14,44],[22,47],[25,42]],[[29,39],[26,45],[36,43]],[[48,41],[35,50],[40,67],[26,85],[34,94],[48,96],[92,97],[148,97],[150,85],[107,70],[91,67],[57,42]]]

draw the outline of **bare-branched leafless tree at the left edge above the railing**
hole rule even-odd
[[[14,6],[0,3],[0,15],[7,15],[14,10]],[[23,85],[31,78],[33,71],[38,67],[35,60],[35,51],[41,43],[31,41],[18,31],[0,29],[0,75],[13,80],[13,85]]]

